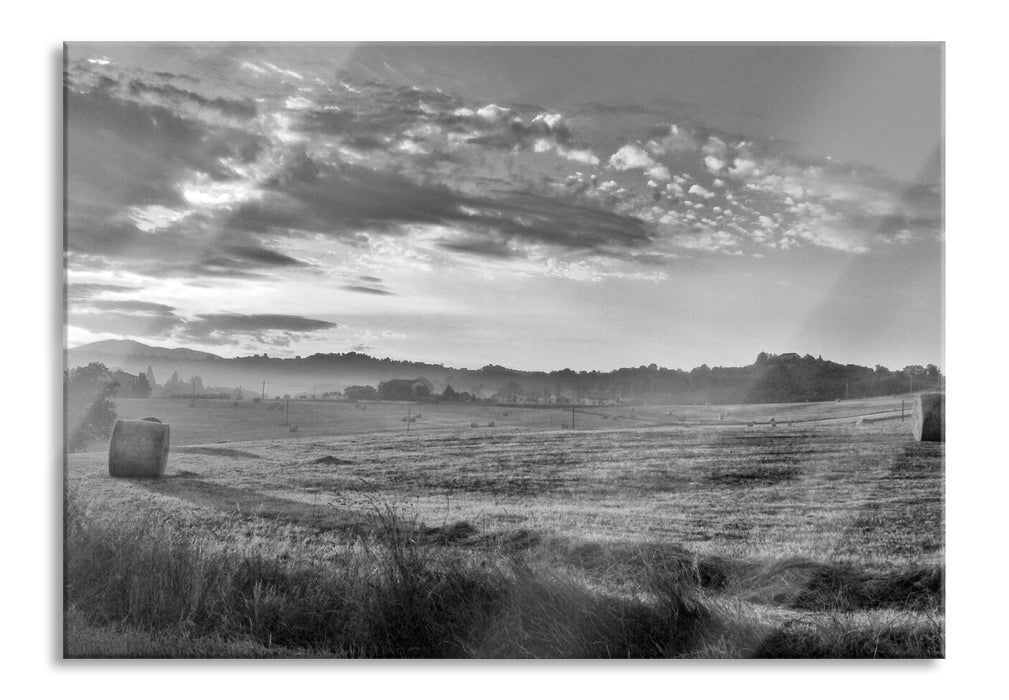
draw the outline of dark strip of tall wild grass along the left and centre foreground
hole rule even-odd
[[[602,595],[516,556],[437,547],[391,506],[377,515],[377,535],[322,565],[211,549],[152,515],[100,521],[71,495],[68,633],[172,638],[172,656],[640,658],[689,654],[711,622],[677,579],[656,577],[647,601]]]

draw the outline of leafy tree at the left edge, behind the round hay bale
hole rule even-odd
[[[67,450],[79,452],[95,440],[107,439],[116,421],[112,401],[119,382],[101,362],[64,372]]]

